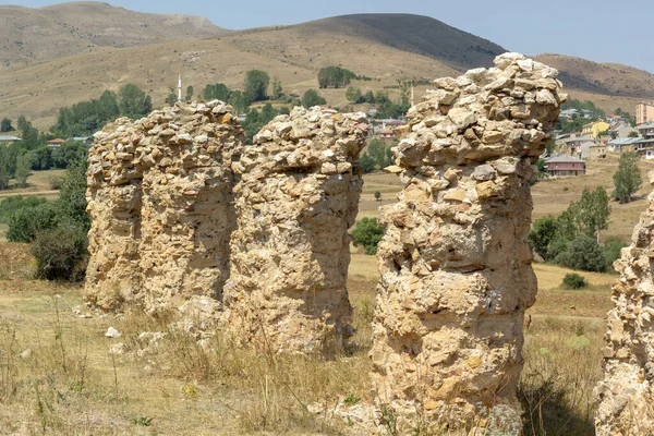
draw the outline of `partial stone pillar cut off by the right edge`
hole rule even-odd
[[[608,312],[604,380],[595,389],[597,436],[654,434],[654,192],[649,199],[631,245],[614,264],[620,279]]]

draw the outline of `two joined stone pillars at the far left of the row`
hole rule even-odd
[[[229,277],[232,160],[242,130],[230,106],[177,104],[117,120],[89,152],[87,301],[110,311],[213,311]],[[197,303],[197,304],[195,304]]]

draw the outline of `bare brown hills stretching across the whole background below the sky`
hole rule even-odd
[[[267,71],[284,92],[318,88],[317,72],[339,65],[371,81],[362,90],[397,95],[397,80],[428,83],[476,66],[489,66],[502,47],[438,20],[410,14],[356,14],[313,22],[227,31],[189,15],[157,15],[106,3],[63,3],[40,9],[0,7],[0,118],[25,114],[39,128],[62,106],[97,98],[105,89],[135,83],[164,105],[182,73],[195,95],[209,83],[240,87],[245,72]],[[654,76],[618,64],[560,55],[537,60],[560,71],[574,98],[607,111],[632,112],[654,99]],[[2,66],[3,65],[3,66]],[[2,70],[4,68],[4,70]],[[416,96],[427,86],[416,87]],[[320,89],[328,104],[348,105],[346,89]]]

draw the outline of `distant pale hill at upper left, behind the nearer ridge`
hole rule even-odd
[[[99,2],[0,5],[0,71],[98,47],[133,47],[227,33],[203,16],[149,14]]]

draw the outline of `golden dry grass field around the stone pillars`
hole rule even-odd
[[[584,177],[536,183],[534,216],[560,213],[584,187],[611,187],[616,157],[589,168]],[[644,179],[654,164],[641,168]],[[29,187],[12,193],[43,195],[52,175],[60,172],[35,172]],[[365,175],[359,217],[377,216],[400,187],[396,175]],[[605,235],[627,239],[646,201],[611,207]],[[352,255],[348,286],[356,335],[334,361],[238,351],[219,337],[203,348],[167,316],[128,311],[80,317],[71,308],[82,303],[82,288],[31,279],[33,262],[27,246],[0,243],[0,434],[365,434],[334,410],[346,398],[374,400],[367,376],[374,256]],[[525,434],[592,435],[592,390],[602,377],[604,317],[617,276],[580,272],[590,287],[568,291],[561,280],[569,270],[545,264],[534,270],[538,295],[528,312],[520,385]],[[106,338],[110,326],[122,337]],[[167,336],[148,347],[138,338],[143,331]],[[109,354],[116,343],[128,354]],[[324,413],[308,412],[311,404]]]

